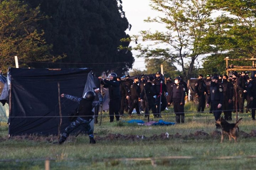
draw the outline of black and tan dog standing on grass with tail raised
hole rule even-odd
[[[228,123],[223,117],[221,117],[216,121],[216,123],[219,124],[222,128],[222,139],[220,143],[223,141],[224,134],[229,136],[230,141],[232,137],[236,142],[237,133],[239,131],[238,124],[240,120],[242,120],[242,118],[240,118],[236,123]]]

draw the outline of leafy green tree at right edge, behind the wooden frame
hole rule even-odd
[[[256,57],[256,2],[244,0],[209,0],[207,7],[222,11],[210,24],[205,44],[211,46],[212,55],[204,62],[206,69],[225,72],[225,57]],[[250,66],[251,62],[233,62]]]

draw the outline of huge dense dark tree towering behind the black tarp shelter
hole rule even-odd
[[[128,50],[125,30],[129,23],[121,0],[26,0],[50,16],[39,24],[45,30],[53,53],[67,56],[58,64],[41,63],[44,67],[91,67],[97,75],[113,70],[118,75],[132,68],[134,58]]]

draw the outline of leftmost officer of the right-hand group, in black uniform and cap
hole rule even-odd
[[[196,97],[198,97],[198,107],[197,112],[204,112],[205,104],[206,104],[206,98],[204,93],[208,95],[206,84],[203,81],[203,74],[198,75],[198,80],[195,84],[195,90],[196,90]]]

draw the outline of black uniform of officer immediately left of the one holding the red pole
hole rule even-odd
[[[152,110],[153,115],[156,114],[156,105],[155,105],[155,86],[152,86],[150,82],[145,83],[143,91],[140,93],[141,100],[145,101],[145,117],[148,116],[150,109]],[[146,94],[146,95],[145,95]]]

